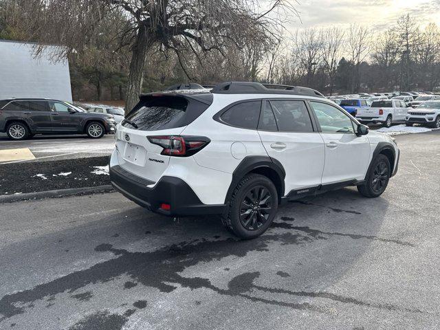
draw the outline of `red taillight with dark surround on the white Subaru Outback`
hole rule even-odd
[[[210,142],[204,136],[161,135],[147,136],[152,144],[162,146],[161,155],[188,157],[194,155]]]

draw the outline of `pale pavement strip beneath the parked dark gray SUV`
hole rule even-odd
[[[114,147],[113,134],[96,140],[87,135],[35,135],[29,140],[11,141],[8,136],[0,133],[0,151],[29,148],[35,157],[31,162],[109,155]]]

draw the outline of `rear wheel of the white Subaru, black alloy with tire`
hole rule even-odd
[[[277,210],[278,193],[274,183],[263,175],[250,174],[241,179],[232,192],[222,222],[241,239],[254,239],[270,227]]]

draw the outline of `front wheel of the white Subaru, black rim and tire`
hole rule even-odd
[[[388,186],[390,176],[390,161],[386,155],[379,154],[373,159],[365,184],[358,186],[358,191],[365,197],[379,197]]]

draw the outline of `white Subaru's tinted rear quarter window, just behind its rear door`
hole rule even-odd
[[[261,101],[235,104],[221,115],[221,120],[231,126],[256,129],[259,124]]]

